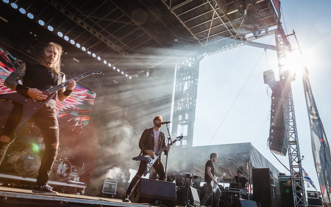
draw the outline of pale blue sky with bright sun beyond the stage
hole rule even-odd
[[[292,33],[292,30],[296,32],[306,57],[312,92],[326,136],[330,140],[331,14],[329,9],[331,1],[281,1],[281,6],[283,10],[281,22],[284,30],[286,25],[288,34]],[[270,40],[270,44],[275,45],[273,35],[264,37],[258,42],[268,43]],[[290,38],[290,42],[292,48],[297,47],[293,38]],[[270,94],[271,90],[269,89],[267,93],[267,85],[263,83],[263,71],[270,69],[278,71],[278,65],[275,51],[268,50],[266,55],[264,49],[241,46],[206,56],[201,61],[193,146],[208,145],[257,64],[210,144],[252,142],[253,146],[275,167],[289,175],[289,172],[267,148],[270,126],[270,95],[268,93]],[[279,78],[276,77],[276,79]],[[300,152],[304,156],[302,166],[315,185],[319,186],[311,151],[310,129],[300,74],[292,82],[292,91]],[[276,156],[285,166],[289,166],[288,156]],[[308,188],[308,190],[312,189]]]

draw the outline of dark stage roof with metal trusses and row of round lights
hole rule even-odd
[[[125,74],[146,76],[150,69],[176,59],[178,50],[187,58],[192,54],[216,52],[272,34],[269,30],[279,27],[271,0],[246,2],[262,30],[256,37],[238,12],[242,0],[1,1],[6,11],[0,16],[11,24],[13,17],[31,18],[30,13],[34,18],[29,22],[15,22],[22,35],[30,35],[31,28],[45,29],[55,35],[60,31],[69,37],[68,45],[72,44],[71,40],[74,42],[71,47],[79,43],[86,48],[85,52],[80,50],[82,54],[88,56],[86,52],[91,51],[100,57],[101,60],[94,58],[95,64],[106,68],[111,63],[108,70],[113,71],[112,67],[116,66],[124,72],[125,78]],[[24,14],[21,8],[26,11]],[[49,26],[53,31],[47,30]],[[37,38],[41,41],[39,36]],[[82,65],[90,61],[89,58],[84,60],[84,55],[78,59]]]

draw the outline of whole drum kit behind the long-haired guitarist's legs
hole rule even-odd
[[[50,180],[67,181],[71,174],[68,146],[59,145],[58,155],[50,173]],[[36,178],[45,151],[40,130],[34,123],[27,123],[7,150],[1,164],[3,172]]]

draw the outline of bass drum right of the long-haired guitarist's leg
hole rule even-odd
[[[71,173],[71,164],[68,160],[55,161],[51,172],[50,178],[52,180],[66,181]]]

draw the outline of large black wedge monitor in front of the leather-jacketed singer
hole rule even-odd
[[[131,202],[174,206],[176,204],[176,184],[142,178],[131,193]]]

